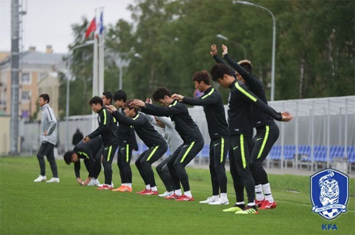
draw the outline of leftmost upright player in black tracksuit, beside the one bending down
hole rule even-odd
[[[89,101],[91,109],[93,112],[99,114],[97,116],[97,121],[99,127],[94,130],[90,135],[84,137],[83,142],[89,142],[97,136],[101,136],[102,139],[102,165],[104,165],[104,176],[105,183],[101,187],[97,188],[99,190],[111,190],[113,189],[112,183],[112,161],[118,147],[118,137],[116,132],[115,123],[113,123],[113,118],[110,112],[104,107],[102,98],[99,96],[94,96]]]

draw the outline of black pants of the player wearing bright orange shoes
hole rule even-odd
[[[120,169],[121,183],[132,183],[132,169],[129,165],[132,159],[132,145],[125,144],[118,147],[117,165]]]

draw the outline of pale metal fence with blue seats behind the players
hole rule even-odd
[[[289,123],[276,121],[280,137],[271,149],[267,167],[292,167],[315,170],[318,167],[336,167],[354,171],[355,164],[355,96],[279,100],[269,105],[278,112],[288,111],[294,116]],[[228,107],[225,106],[227,111]],[[200,128],[205,146],[195,162],[207,162],[210,137],[202,107],[191,107],[189,112]],[[79,128],[84,135],[92,130],[96,115],[70,116],[68,128],[65,121],[58,122],[58,151],[65,150],[72,135]],[[22,152],[36,153],[39,148],[39,123],[20,123]],[[158,131],[159,128],[157,128]],[[140,149],[145,150],[139,138]],[[136,153],[136,154],[138,154]],[[167,153],[169,154],[169,152]]]

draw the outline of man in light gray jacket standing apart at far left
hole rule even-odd
[[[40,163],[40,175],[34,182],[47,180],[45,156],[52,169],[53,177],[47,183],[59,183],[58,172],[56,168],[56,159],[54,158],[54,146],[56,145],[56,116],[53,109],[49,107],[49,96],[42,94],[38,98],[38,105],[42,112],[42,120],[40,123],[40,149],[37,153],[38,162]]]

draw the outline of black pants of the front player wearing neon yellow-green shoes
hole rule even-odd
[[[230,174],[237,202],[244,201],[244,187],[248,195],[248,203],[254,202],[255,183],[250,170],[251,137],[243,134],[230,135],[229,159]]]

